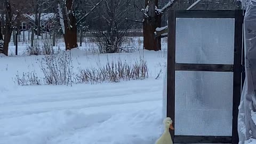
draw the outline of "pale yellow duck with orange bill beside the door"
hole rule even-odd
[[[173,144],[171,134],[169,132],[169,129],[174,130],[172,126],[172,119],[167,117],[164,119],[163,123],[165,127],[164,133],[159,139],[156,140],[155,144]]]

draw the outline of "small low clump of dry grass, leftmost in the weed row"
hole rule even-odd
[[[22,76],[19,76],[19,72],[17,72],[14,83],[18,85],[41,85],[41,80],[37,77],[35,71],[22,73]]]

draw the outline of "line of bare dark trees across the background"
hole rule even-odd
[[[0,52],[8,55],[13,29],[19,28],[23,14],[34,14],[35,34],[41,35],[43,13],[57,15],[55,25],[62,30],[66,50],[77,47],[78,29],[93,29],[106,53],[118,52],[127,30],[143,29],[143,47],[161,50],[157,29],[167,25],[168,10],[186,10],[196,0],[0,0]],[[240,9],[235,0],[202,0],[191,10]],[[1,33],[3,31],[3,34]]]

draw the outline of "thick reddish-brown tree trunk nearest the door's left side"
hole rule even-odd
[[[148,5],[148,17],[144,16],[143,22],[143,47],[146,50],[161,50],[161,37],[154,37],[157,27],[161,27],[161,14],[156,14],[155,7],[158,7],[158,0],[146,0]]]

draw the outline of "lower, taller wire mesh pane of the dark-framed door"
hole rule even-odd
[[[233,73],[175,71],[175,135],[232,135]]]

